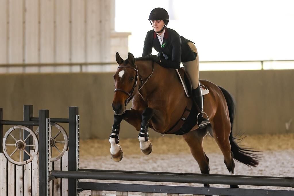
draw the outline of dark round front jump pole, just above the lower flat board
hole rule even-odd
[[[223,177],[206,175],[173,175],[173,174],[142,174],[116,172],[81,172],[81,171],[51,171],[56,178],[93,179],[93,180],[127,180],[148,182],[203,183],[222,185],[256,185],[291,187],[294,179]]]

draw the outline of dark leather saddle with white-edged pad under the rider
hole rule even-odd
[[[176,69],[176,72],[183,85],[186,96],[190,97],[192,95],[192,90],[193,90],[190,77],[186,73],[185,69],[182,67],[180,67],[179,69]],[[200,82],[200,86],[201,86],[202,95],[206,95],[209,93],[208,88],[206,88],[206,86],[204,86],[201,82]]]

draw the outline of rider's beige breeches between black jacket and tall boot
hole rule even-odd
[[[194,61],[183,62],[183,66],[191,79],[192,88],[195,89],[199,84],[199,55],[194,43],[188,41],[188,45],[193,52],[197,53],[197,56]]]

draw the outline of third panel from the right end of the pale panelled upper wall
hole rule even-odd
[[[71,61],[85,61],[85,0],[71,3]]]

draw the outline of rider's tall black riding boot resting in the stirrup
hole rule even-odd
[[[193,100],[197,104],[197,110],[198,110],[198,118],[197,118],[197,124],[200,129],[205,128],[206,125],[209,124],[209,120],[203,117],[203,100],[202,100],[202,91],[200,83],[196,89],[192,90],[192,96]]]

